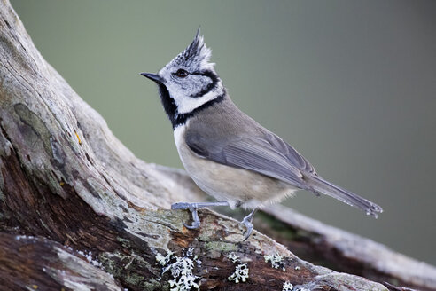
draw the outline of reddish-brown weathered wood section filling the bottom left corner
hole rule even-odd
[[[122,290],[97,268],[90,254],[79,254],[53,240],[0,233],[2,290]]]

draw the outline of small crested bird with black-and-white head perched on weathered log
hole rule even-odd
[[[140,73],[158,85],[183,167],[216,200],[172,204],[174,210],[191,211],[192,223],[183,222],[185,227],[199,228],[199,208],[251,209],[241,222],[245,241],[258,209],[300,189],[331,196],[376,218],[383,212],[376,203],[320,177],[284,139],[239,110],[210,62],[211,55],[198,29],[191,44],[157,74]]]

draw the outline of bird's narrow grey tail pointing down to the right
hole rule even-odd
[[[355,208],[362,209],[369,216],[378,217],[378,213],[382,213],[383,209],[376,203],[364,199],[363,197],[346,191],[337,185],[324,180],[322,177],[315,175],[305,176],[304,179],[308,182],[311,190],[315,193],[329,195]]]

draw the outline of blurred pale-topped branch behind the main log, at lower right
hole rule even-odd
[[[267,217],[258,221],[258,229],[311,263],[396,286],[436,289],[436,268],[428,263],[417,262],[382,244],[302,216],[291,208],[275,205],[264,211]],[[266,224],[269,219],[278,219],[279,223]]]

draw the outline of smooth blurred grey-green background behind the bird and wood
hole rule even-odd
[[[377,220],[299,193],[284,204],[436,263],[436,1],[12,0],[66,81],[145,161],[182,167],[155,85],[201,25],[234,102]]]

